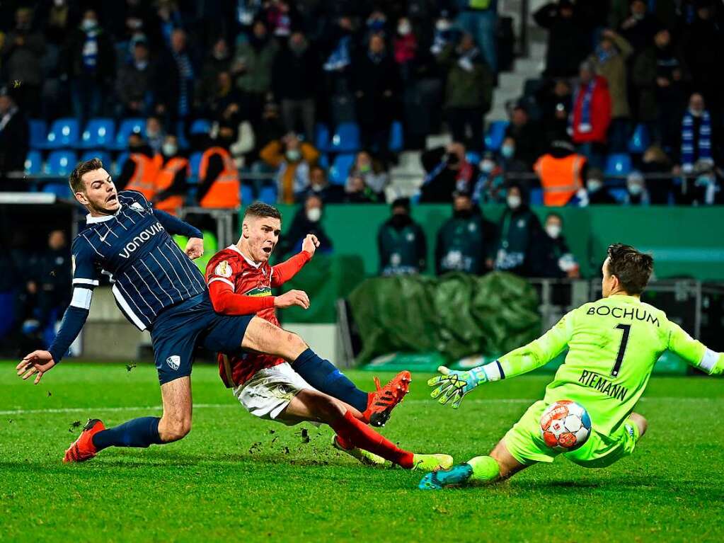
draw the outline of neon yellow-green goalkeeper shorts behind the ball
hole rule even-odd
[[[583,447],[563,452],[548,447],[540,431],[540,419],[548,404],[539,401],[523,413],[521,420],[505,434],[505,447],[515,460],[525,466],[536,462],[552,462],[563,453],[565,458],[584,468],[606,468],[621,458],[628,456],[636,448],[639,440],[639,427],[627,418],[611,435],[601,434],[592,429],[588,441]]]

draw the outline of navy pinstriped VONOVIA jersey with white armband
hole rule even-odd
[[[201,237],[201,232],[153,209],[135,190],[119,192],[118,201],[113,215],[88,215],[88,227],[73,241],[73,297],[49,348],[56,363],[83,328],[101,274],[109,277],[122,313],[140,330],[153,327],[165,308],[206,292],[203,274],[169,235]]]

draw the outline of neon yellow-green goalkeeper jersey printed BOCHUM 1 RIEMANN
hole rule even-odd
[[[663,311],[633,296],[613,295],[574,309],[539,339],[500,358],[501,377],[543,366],[566,347],[544,401],[580,403],[603,434],[618,429],[633,411],[665,350],[709,374],[724,371],[724,355],[691,338]]]

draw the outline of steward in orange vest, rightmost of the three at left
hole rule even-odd
[[[212,146],[203,152],[198,178],[201,182],[198,204],[201,207],[235,209],[241,206],[239,172],[224,147]]]

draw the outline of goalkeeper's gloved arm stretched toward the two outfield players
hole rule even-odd
[[[544,366],[568,345],[573,333],[575,311],[565,315],[555,327],[537,340],[510,351],[507,355],[489,364],[477,366],[468,371],[456,371],[440,366],[437,371],[442,375],[432,377],[427,382],[429,386],[435,387],[430,396],[439,398],[437,401],[443,405],[452,402],[452,408],[457,409],[460,407],[463,397],[479,384],[525,374]]]

